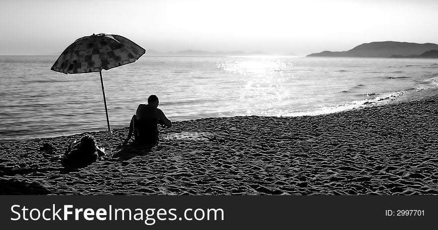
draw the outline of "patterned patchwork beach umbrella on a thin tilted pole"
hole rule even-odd
[[[146,50],[141,46],[120,35],[93,34],[81,37],[69,45],[56,60],[55,64],[53,64],[51,70],[65,74],[99,72],[110,136],[111,129],[109,127],[102,70],[109,70],[135,62],[145,52]]]

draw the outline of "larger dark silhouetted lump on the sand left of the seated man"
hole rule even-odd
[[[95,138],[84,135],[81,140],[74,140],[64,154],[64,163],[73,165],[86,165],[93,163],[99,157],[105,156],[104,149],[99,148]]]

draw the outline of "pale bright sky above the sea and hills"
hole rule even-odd
[[[436,0],[1,0],[0,55],[58,55],[111,33],[159,52],[298,55],[438,43]]]

